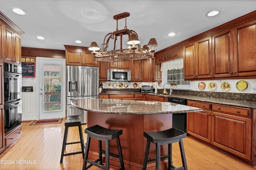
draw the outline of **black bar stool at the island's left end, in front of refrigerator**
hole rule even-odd
[[[80,141],[67,143],[68,127],[73,127],[73,126],[78,126]],[[76,144],[76,143],[81,144],[81,149],[82,149],[81,151],[64,154],[64,150],[66,150],[66,145],[71,145],[71,144]],[[83,134],[82,134],[81,116],[80,115],[68,116],[65,121],[65,133],[64,133],[64,139],[63,139],[63,144],[62,144],[60,163],[62,163],[62,161],[63,161],[63,156],[68,156],[68,155],[72,155],[72,154],[80,154],[80,153],[83,155],[83,158],[84,158],[84,139],[83,139]]]

